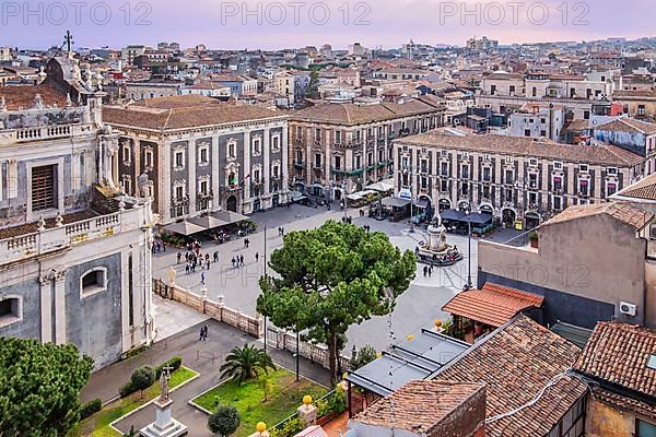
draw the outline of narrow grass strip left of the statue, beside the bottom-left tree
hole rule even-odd
[[[173,374],[171,374],[171,380],[168,381],[168,387],[174,389],[180,383],[194,378],[196,376],[196,371],[188,369],[183,366]],[[81,436],[93,436],[93,437],[121,437],[119,433],[114,430],[109,426],[109,424],[116,421],[118,417],[125,416],[131,411],[137,410],[139,406],[144,403],[155,399],[160,395],[160,383],[155,381],[151,387],[143,390],[143,399],[139,392],[132,393],[127,398],[122,398],[119,401],[116,401],[97,413],[93,414],[91,417],[85,418],[80,424],[79,428],[81,434],[75,433],[69,437],[74,437],[78,435]]]

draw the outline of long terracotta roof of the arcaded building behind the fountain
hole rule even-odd
[[[609,166],[633,166],[644,161],[634,153],[610,144],[569,145],[548,140],[492,134],[454,135],[446,131],[430,131],[395,141],[399,144],[454,149],[468,152],[535,156],[572,163]]]

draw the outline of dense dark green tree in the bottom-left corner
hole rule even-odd
[[[0,429],[4,436],[65,436],[80,420],[93,361],[72,344],[0,338]]]

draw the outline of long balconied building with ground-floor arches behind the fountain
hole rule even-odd
[[[569,205],[606,201],[643,176],[645,158],[610,144],[441,129],[396,140],[394,168],[396,191],[410,190],[415,202],[532,228]]]

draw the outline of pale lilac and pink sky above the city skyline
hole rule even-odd
[[[306,45],[396,48],[655,36],[653,0],[0,0],[0,46],[48,48],[70,29],[77,47],[177,42],[216,49]]]

